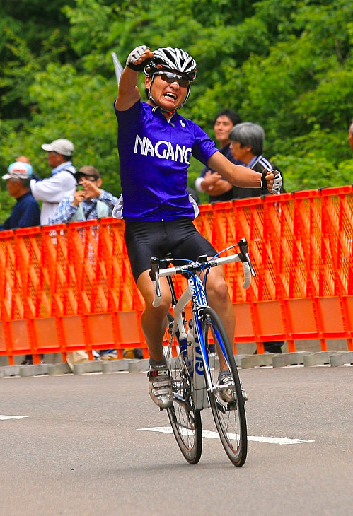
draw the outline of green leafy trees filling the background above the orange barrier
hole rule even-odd
[[[119,194],[111,52],[124,64],[146,44],[197,59],[183,115],[210,136],[222,107],[264,127],[287,191],[352,182],[352,0],[19,0],[0,15],[2,170],[25,154],[49,175],[40,145],[66,137],[76,166],[96,166]],[[200,170],[192,160],[190,186]],[[3,184],[2,219],[12,202]]]

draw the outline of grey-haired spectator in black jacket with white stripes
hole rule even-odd
[[[251,122],[237,124],[231,130],[229,137],[233,158],[242,160],[246,167],[260,173],[264,168],[279,170],[271,161],[262,156],[265,131],[260,125]],[[284,192],[283,184],[281,191]],[[245,199],[246,197],[256,197],[263,194],[264,192],[260,188],[233,187],[233,197],[235,199]],[[284,341],[264,342],[265,353],[282,353],[283,344]]]

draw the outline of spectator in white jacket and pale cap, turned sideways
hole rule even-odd
[[[72,164],[74,144],[66,138],[52,143],[43,143],[43,151],[47,151],[48,164],[52,168],[51,177],[43,180],[31,180],[30,189],[37,201],[42,201],[41,225],[50,224],[59,202],[76,189],[76,168]]]

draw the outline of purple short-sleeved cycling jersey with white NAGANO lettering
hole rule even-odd
[[[115,115],[125,221],[195,218],[186,190],[190,156],[206,165],[214,141],[191,120],[175,112],[168,121],[146,102]]]

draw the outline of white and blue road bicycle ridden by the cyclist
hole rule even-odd
[[[240,248],[238,254],[218,257],[222,252]],[[151,258],[150,276],[154,282],[154,307],[161,303],[159,278],[166,276],[172,295],[173,315],[168,313],[168,346],[165,355],[170,370],[173,406],[166,409],[175,439],[190,464],[197,464],[202,454],[201,411],[211,408],[214,423],[228,458],[236,467],[245,463],[248,438],[241,382],[224,326],[207,304],[206,282],[209,269],[222,264],[242,262],[243,288],[250,286],[255,271],[250,262],[248,244],[241,239],[212,259],[200,256],[196,262],[170,266],[172,257]],[[182,274],[187,288],[177,299],[171,276]],[[202,279],[201,279],[202,276]],[[185,306],[192,302],[192,319],[185,319]],[[213,346],[213,347],[212,347]],[[216,351],[216,352],[214,352]],[[226,383],[219,373],[227,373]],[[224,373],[222,373],[224,374]]]

